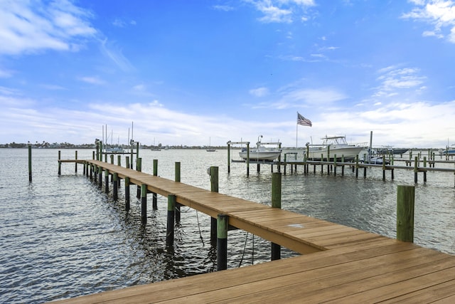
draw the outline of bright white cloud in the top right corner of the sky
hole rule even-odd
[[[423,36],[447,38],[455,43],[455,3],[451,0],[413,0],[415,7],[409,13],[402,14],[403,19],[414,19],[431,24],[431,31],[424,31]]]

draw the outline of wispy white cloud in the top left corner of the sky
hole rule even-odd
[[[71,1],[0,1],[0,55],[77,51],[95,36],[90,11]]]

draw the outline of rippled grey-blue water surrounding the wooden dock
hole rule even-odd
[[[73,159],[75,150],[61,150]],[[269,166],[256,165],[246,177],[245,164],[231,164],[225,150],[141,150],[142,171],[173,179],[181,162],[181,182],[210,189],[207,169],[219,167],[220,193],[270,204]],[[237,157],[237,152],[233,152]],[[91,159],[92,150],[78,158]],[[140,201],[132,188],[132,209],[124,211],[124,187],[119,201],[82,175],[75,164],[63,164],[58,176],[58,150],[33,150],[33,182],[28,182],[28,150],[0,149],[0,302],[43,303],[131,285],[151,283],[214,271],[216,254],[210,246],[210,219],[182,207],[173,250],[165,246],[167,199],[159,196],[159,210],[149,206],[141,225]],[[117,162],[117,157],[115,158]],[[122,157],[124,165],[124,157]],[[439,164],[441,166],[441,164]],[[449,165],[447,165],[449,166]],[[453,164],[451,164],[453,166]],[[324,168],[326,171],[326,168]],[[345,176],[283,175],[282,208],[319,219],[395,238],[396,189],[414,184],[414,173],[395,170],[395,180],[380,169],[368,177],[350,170]],[[419,174],[415,198],[414,241],[421,246],[455,253],[454,174]],[[151,199],[150,199],[151,201]],[[229,231],[228,268],[269,261],[269,242],[245,231]],[[295,253],[282,249],[282,257]]]

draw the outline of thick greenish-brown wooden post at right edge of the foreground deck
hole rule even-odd
[[[414,241],[414,186],[397,187],[397,240]]]

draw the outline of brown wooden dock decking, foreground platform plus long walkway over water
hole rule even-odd
[[[180,204],[303,256],[228,269],[60,303],[453,303],[455,256],[413,243],[213,193],[169,179],[88,161]]]

